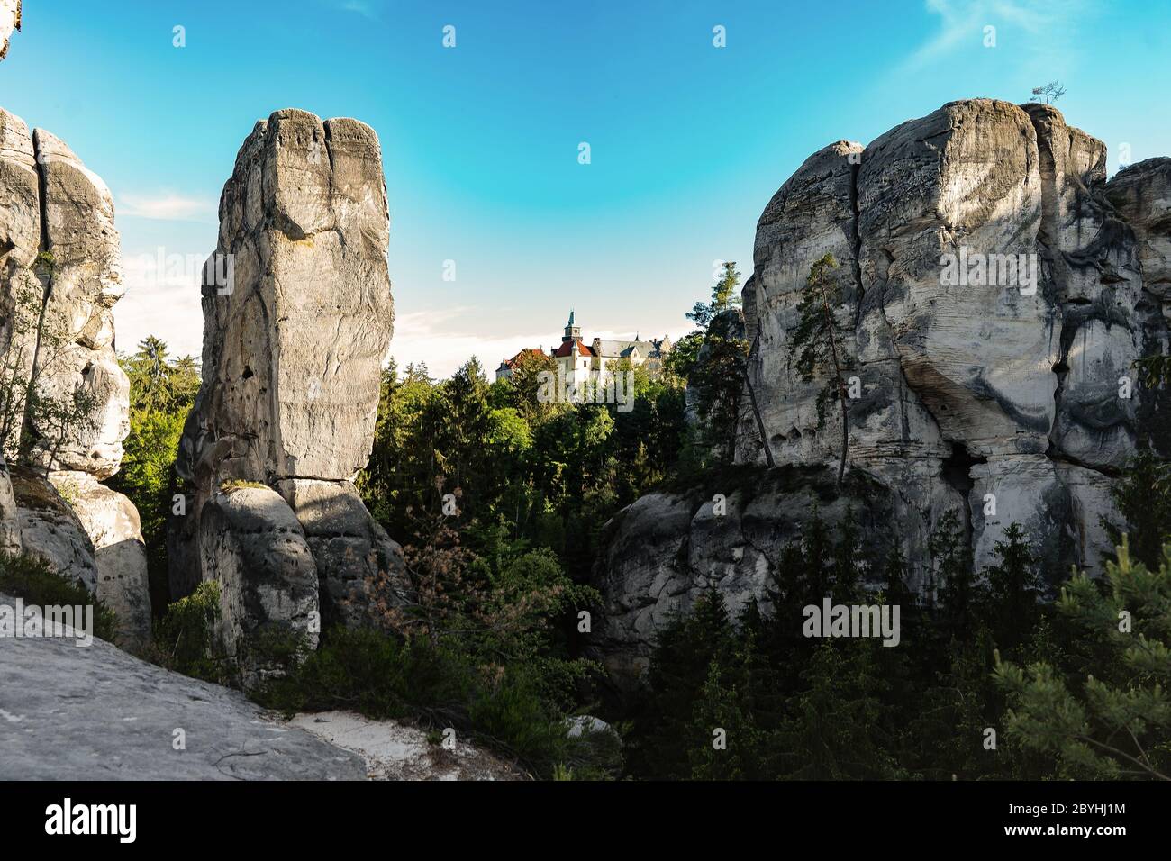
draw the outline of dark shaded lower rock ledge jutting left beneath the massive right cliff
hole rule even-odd
[[[801,537],[814,510],[833,527],[852,508],[868,549],[885,555],[884,527],[900,519],[905,504],[864,476],[849,479],[841,494],[835,479],[831,467],[742,469],[711,493],[652,493],[615,515],[600,538],[596,585],[605,603],[593,642],[610,678],[632,684],[646,669],[655,631],[687,613],[708,586],[733,617],[753,599],[771,610],[766,589],[781,551]],[[724,496],[723,514],[715,493]]]

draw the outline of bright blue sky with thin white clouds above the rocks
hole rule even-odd
[[[687,330],[714,260],[751,273],[756,219],[810,152],[947,101],[1057,78],[1114,164],[1122,143],[1171,153],[1163,2],[26,0],[23,18],[0,105],[114,192],[121,349],[158,334],[198,355],[198,288],[136,261],[212,251],[237,150],[280,108],[378,132],[391,353],[443,375],[557,343],[570,307],[587,337]]]

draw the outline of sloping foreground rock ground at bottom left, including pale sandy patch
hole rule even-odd
[[[0,606],[14,604],[0,593]],[[525,777],[466,740],[448,751],[393,720],[326,712],[285,722],[239,691],[100,640],[80,648],[63,626],[49,624],[57,636],[6,638],[0,647],[0,780]]]

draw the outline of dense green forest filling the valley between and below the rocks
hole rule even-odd
[[[713,588],[657,633],[639,691],[611,688],[580,624],[582,610],[602,609],[590,586],[600,533],[649,491],[735,473],[752,349],[733,324],[738,283],[730,264],[687,314],[694,330],[662,375],[634,369],[630,411],[541,403],[553,360],[540,355],[491,383],[474,358],[447,380],[391,362],[356,485],[403,545],[416,603],[388,610],[379,628],[327,630],[311,654],[274,644],[288,672],[252,696],[288,713],[341,708],[454,726],[541,778],[1171,777],[1171,480],[1153,453],[1118,485],[1129,535],[1116,533],[1103,579],[1070,574],[1053,588],[1019,527],[995,565],[974,570],[951,517],[930,545],[938,588],[917,595],[893,540],[875,554],[849,518],[830,526],[814,510],[775,560],[767,611],[753,603],[733,617]],[[817,296],[808,300],[799,358],[812,373],[826,355]],[[231,682],[207,635],[213,590],[171,603],[166,587],[172,462],[198,365],[148,339],[123,367],[131,432],[110,484],[142,515],[155,660]],[[838,395],[827,392],[827,409]],[[842,469],[844,457],[843,442]],[[801,636],[801,607],[827,595],[899,606],[900,647]],[[612,731],[568,737],[566,720],[587,713]]]

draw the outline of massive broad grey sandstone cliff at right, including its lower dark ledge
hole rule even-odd
[[[802,382],[792,356],[806,278],[831,253],[834,314],[860,383],[850,470],[883,488],[882,528],[895,527],[918,586],[949,510],[978,569],[1015,521],[1050,576],[1100,570],[1114,477],[1141,439],[1167,449],[1166,404],[1131,362],[1169,344],[1171,159],[1107,183],[1105,158],[1049,105],[952,102],[865,148],[814,153],[760,218],[742,299],[771,453],[814,470],[840,453],[840,415],[817,415],[826,381]],[[763,464],[756,419],[741,414],[737,460]],[[705,511],[719,492],[730,511],[713,532]],[[637,664],[653,628],[708,579],[733,609],[763,597],[776,539],[808,515],[802,493],[713,486],[619,514],[597,573],[611,665]]]

